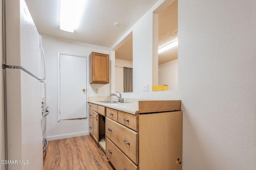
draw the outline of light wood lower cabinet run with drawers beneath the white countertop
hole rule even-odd
[[[90,104],[89,113],[90,134],[116,170],[182,170],[182,111],[134,115]]]

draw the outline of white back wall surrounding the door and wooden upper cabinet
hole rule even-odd
[[[48,140],[62,139],[66,137],[88,135],[89,120],[75,119],[58,122],[57,117],[57,54],[68,54],[77,56],[89,56],[92,51],[110,54],[106,47],[90,45],[65,39],[58,39],[42,35],[42,46],[46,55],[46,83],[47,83],[47,104],[50,114],[47,116],[46,137]],[[110,56],[111,58],[111,56]],[[72,63],[70,63],[72,64]],[[89,75],[89,74],[88,74]],[[98,89],[98,94],[95,94]],[[110,84],[89,84],[88,97],[108,96],[110,94]]]

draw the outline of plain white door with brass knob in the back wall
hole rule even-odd
[[[60,119],[86,118],[85,57],[60,55]]]

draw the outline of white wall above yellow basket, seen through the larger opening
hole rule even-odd
[[[178,90],[178,59],[158,65],[158,84],[168,84],[168,90]]]

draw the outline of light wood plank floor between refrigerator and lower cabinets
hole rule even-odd
[[[90,135],[49,141],[44,170],[114,170]]]

